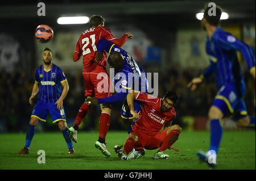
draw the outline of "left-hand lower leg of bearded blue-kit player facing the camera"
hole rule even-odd
[[[30,144],[35,134],[35,126],[38,124],[38,121],[39,121],[38,117],[31,116],[30,123],[28,124],[28,127],[27,127],[26,144],[24,148],[18,152],[19,154],[29,153]]]

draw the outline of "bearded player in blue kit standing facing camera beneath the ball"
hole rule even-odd
[[[48,113],[50,113],[53,123],[57,123],[65,141],[68,145],[68,153],[75,154],[73,149],[72,140],[68,135],[68,127],[66,123],[65,112],[63,108],[63,100],[68,94],[69,86],[67,78],[63,71],[52,64],[52,51],[49,48],[44,48],[42,52],[43,65],[35,71],[35,83],[32,89],[32,94],[29,103],[32,105],[32,99],[36,94],[39,95],[38,102],[33,108],[30,123],[27,128],[26,144],[19,154],[28,154],[30,144],[35,133],[35,126],[38,121],[45,121]],[[61,92],[61,86],[63,91]]]

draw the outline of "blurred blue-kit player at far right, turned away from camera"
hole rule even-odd
[[[218,27],[221,9],[216,7],[216,16],[209,16],[209,7],[205,9],[204,18],[201,20],[204,30],[207,32],[206,51],[210,58],[210,66],[204,73],[192,79],[188,84],[191,90],[203,82],[210,74],[216,75],[218,93],[209,110],[210,119],[210,148],[208,153],[199,151],[200,159],[207,162],[210,167],[216,163],[209,163],[210,155],[217,156],[222,137],[222,125],[220,123],[224,116],[233,115],[238,127],[255,129],[255,117],[249,117],[243,95],[245,94],[245,82],[241,74],[240,64],[237,58],[237,50],[240,50],[247,62],[251,75],[255,78],[255,58],[249,45],[238,40],[229,32]]]

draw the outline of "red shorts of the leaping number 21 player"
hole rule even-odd
[[[110,78],[103,66],[93,64],[88,69],[82,70],[85,83],[85,96],[107,98],[112,95]]]

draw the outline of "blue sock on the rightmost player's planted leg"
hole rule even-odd
[[[210,149],[218,153],[222,137],[222,126],[219,119],[210,120]]]

